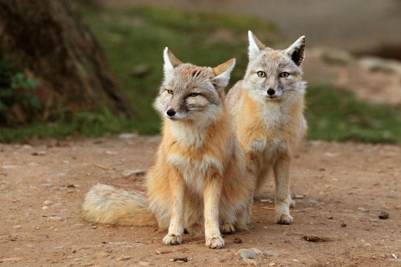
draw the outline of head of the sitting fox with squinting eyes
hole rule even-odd
[[[170,121],[213,122],[223,112],[224,87],[230,81],[235,59],[215,67],[182,63],[166,47],[164,80],[154,108]]]

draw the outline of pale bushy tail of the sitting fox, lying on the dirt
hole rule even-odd
[[[82,213],[90,222],[153,226],[155,217],[143,192],[119,186],[97,184],[85,195]]]

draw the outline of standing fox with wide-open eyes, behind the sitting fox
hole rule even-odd
[[[290,168],[307,130],[304,98],[306,82],[301,63],[305,58],[305,36],[284,50],[266,47],[248,32],[249,63],[244,79],[227,94],[234,117],[236,137],[246,154],[255,179],[255,198],[273,172],[275,178],[275,222],[291,224],[289,208]]]

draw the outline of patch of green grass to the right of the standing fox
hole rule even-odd
[[[309,139],[401,143],[398,108],[366,103],[331,85],[310,85],[307,91]]]

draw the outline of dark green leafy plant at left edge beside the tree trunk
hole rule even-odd
[[[0,58],[0,123],[7,124],[13,119],[12,108],[21,107],[26,113],[38,110],[38,98],[31,94],[39,83],[25,74],[13,73],[7,57]]]

